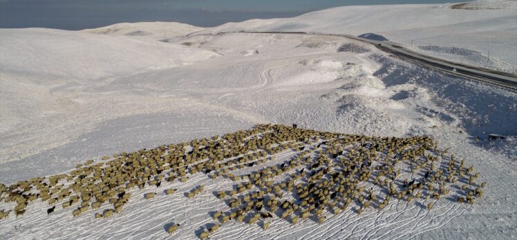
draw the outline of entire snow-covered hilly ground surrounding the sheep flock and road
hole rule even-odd
[[[350,39],[216,34],[374,32],[407,46],[413,39],[415,49],[453,60],[467,61],[455,54],[466,53],[472,63],[490,50],[494,67],[508,69],[517,65],[514,2],[478,1],[476,10],[453,4],[332,8],[208,29],[176,23],[79,32],[0,29],[0,182],[65,173],[86,159],[257,123],[378,137],[431,135],[480,172],[485,197],[472,206],[443,198],[431,211],[424,203],[393,200],[384,210],[348,210],[321,224],[292,226],[275,216],[268,230],[229,221],[212,238],[514,239],[516,92],[420,68]],[[479,7],[487,4],[504,8]],[[431,48],[423,43],[428,40]],[[488,141],[491,133],[514,137]],[[277,163],[292,154],[279,154]],[[183,195],[201,183],[199,195]],[[0,239],[194,239],[213,221],[210,213],[226,206],[213,191],[231,186],[228,179],[194,174],[158,190],[134,188],[120,214],[101,220],[94,210],[73,217],[60,204],[47,216],[47,203],[30,203],[26,214],[0,220]],[[167,188],[178,193],[166,197]],[[151,191],[160,193],[145,200]],[[0,203],[0,210],[9,204]],[[181,224],[175,234],[164,230],[169,223]]]

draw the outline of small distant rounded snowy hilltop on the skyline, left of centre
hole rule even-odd
[[[185,23],[169,22],[142,22],[142,23],[116,23],[102,28],[82,30],[95,34],[124,35],[142,37],[148,39],[165,39],[167,37],[181,37],[191,32],[203,30]]]

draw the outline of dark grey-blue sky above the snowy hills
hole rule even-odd
[[[178,21],[212,27],[229,21],[294,17],[351,5],[447,3],[440,0],[0,0],[0,28],[79,30],[120,22]]]

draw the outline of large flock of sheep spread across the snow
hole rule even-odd
[[[296,154],[287,161],[265,164],[290,151]],[[259,170],[232,173],[253,166]],[[97,163],[88,160],[68,174],[0,183],[0,221],[8,221],[11,212],[24,214],[32,201],[48,202],[48,214],[70,208],[73,216],[91,212],[95,219],[109,218],[122,212],[134,197],[130,191],[138,192],[133,188],[185,183],[192,174],[234,181],[232,189],[214,192],[228,208],[210,213],[215,222],[201,226],[200,239],[228,221],[259,223],[263,229],[275,216],[292,224],[305,219],[321,223],[346,210],[382,210],[393,199],[420,201],[429,210],[444,196],[472,204],[486,186],[473,166],[465,166],[448,149],[440,150],[432,137],[365,137],[266,124],[222,137],[122,152]],[[197,186],[184,195],[192,198],[204,190]],[[175,192],[164,190],[167,195]],[[156,193],[141,197],[151,199]],[[97,210],[106,205],[113,208]],[[171,223],[166,230],[172,234],[178,228]]]

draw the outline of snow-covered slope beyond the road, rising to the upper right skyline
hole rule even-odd
[[[455,47],[480,52],[469,55],[426,52],[455,61],[511,72],[517,66],[517,3],[509,0],[474,1],[464,10],[455,4],[346,6],[309,12],[290,19],[228,23],[201,32],[238,30],[303,31],[360,35],[380,34],[390,41],[419,46]],[[487,54],[498,59],[487,63]]]

